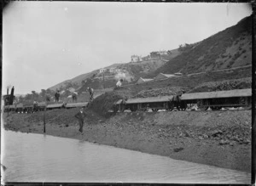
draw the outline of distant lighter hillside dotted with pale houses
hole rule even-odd
[[[169,50],[169,52],[169,54],[161,55],[161,59],[149,58],[140,62],[108,65],[104,67],[104,69],[114,68],[119,71],[105,72],[103,77],[103,73],[101,73],[100,70],[93,70],[89,73],[76,76],[73,79],[58,83],[53,87],[49,87],[49,89],[55,91],[56,88],[74,87],[79,90],[79,92],[83,92],[86,87],[93,87],[95,89],[113,87],[120,78],[125,80],[124,83],[132,82],[137,80],[140,76],[143,76],[143,74],[160,68],[160,66],[166,64],[166,61],[181,54],[181,51],[177,49]]]

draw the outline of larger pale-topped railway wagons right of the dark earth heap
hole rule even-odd
[[[161,96],[137,99],[119,99],[113,105],[113,111],[123,112],[124,110],[173,110],[173,96]],[[216,91],[205,93],[184,93],[180,97],[180,109],[186,110],[188,105],[196,104],[200,110],[220,110],[224,107],[242,107],[250,109],[252,105],[252,89],[236,89],[229,91]]]

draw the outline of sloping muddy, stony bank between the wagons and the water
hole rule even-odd
[[[133,149],[173,159],[251,172],[251,111],[117,113],[108,119],[87,110],[84,132],[78,109],[46,112],[46,134]],[[44,112],[3,115],[6,130],[43,133]]]

